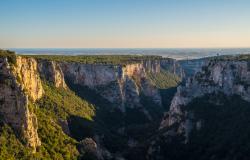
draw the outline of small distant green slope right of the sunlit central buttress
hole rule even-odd
[[[165,70],[161,70],[160,73],[147,73],[150,81],[159,89],[168,89],[176,87],[181,79],[177,75]]]

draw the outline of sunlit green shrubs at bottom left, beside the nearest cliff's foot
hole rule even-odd
[[[67,136],[52,114],[35,107],[35,114],[38,118],[38,135],[42,145],[38,148],[36,157],[41,159],[77,159],[77,142]]]

